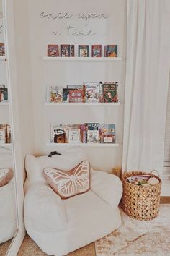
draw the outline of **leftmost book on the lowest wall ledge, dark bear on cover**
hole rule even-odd
[[[66,127],[61,125],[51,125],[51,142],[66,143]]]

